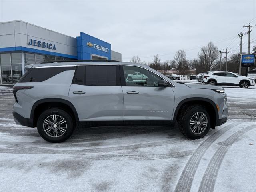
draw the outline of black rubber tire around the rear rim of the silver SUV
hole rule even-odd
[[[49,117],[51,115],[58,115],[66,121],[66,131],[64,133],[60,132],[62,134],[61,136],[52,137],[52,136],[49,136],[48,134],[46,134],[46,132],[44,131],[44,121],[46,120],[47,117]],[[44,140],[46,140],[48,142],[52,142],[52,143],[60,143],[60,142],[67,140],[72,135],[74,127],[75,127],[75,125],[74,125],[71,115],[64,110],[57,109],[57,108],[45,110],[39,116],[38,121],[37,121],[37,130],[38,130],[38,133],[40,134],[40,136]],[[56,129],[58,129],[58,128],[56,128]]]

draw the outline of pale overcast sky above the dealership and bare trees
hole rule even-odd
[[[220,50],[228,46],[238,52],[237,33],[246,32],[242,26],[249,22],[256,24],[256,1],[0,0],[0,22],[10,20],[73,37],[85,32],[110,43],[123,61],[134,55],[150,61],[154,54],[172,60],[182,48],[190,59],[209,41]],[[248,35],[243,42],[247,51]],[[251,42],[256,45],[256,27]]]

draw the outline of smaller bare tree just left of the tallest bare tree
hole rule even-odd
[[[174,60],[177,62],[176,70],[179,75],[184,75],[188,69],[188,61],[186,60],[186,52],[181,49],[176,52],[174,55]]]

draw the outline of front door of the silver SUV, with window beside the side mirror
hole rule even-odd
[[[147,76],[140,81],[126,80],[126,74],[140,72]],[[124,120],[171,120],[174,108],[172,87],[159,87],[162,78],[138,66],[120,66],[124,94]]]

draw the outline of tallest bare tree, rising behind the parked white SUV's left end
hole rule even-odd
[[[207,46],[201,47],[198,57],[200,59],[200,63],[202,64],[203,70],[209,71],[214,68],[218,56],[219,50],[216,46],[214,46],[213,42],[210,41]]]

